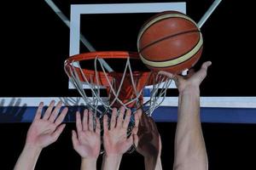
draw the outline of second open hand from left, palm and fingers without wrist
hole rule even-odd
[[[96,118],[96,128],[93,126],[92,112],[84,110],[83,121],[80,113],[76,113],[77,133],[72,131],[73,148],[82,158],[97,159],[101,150],[101,126]]]

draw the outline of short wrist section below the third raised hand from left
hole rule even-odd
[[[120,162],[122,160],[122,155],[115,156],[103,156],[102,170],[115,170],[119,169]]]

